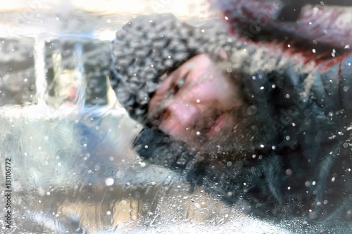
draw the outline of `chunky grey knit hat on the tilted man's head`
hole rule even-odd
[[[172,14],[134,18],[116,33],[110,79],[118,101],[130,117],[146,124],[148,103],[165,75],[199,53],[220,58],[233,38],[222,27],[193,27]]]

